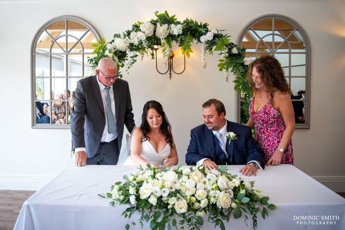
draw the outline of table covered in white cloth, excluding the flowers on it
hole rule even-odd
[[[229,166],[236,174],[241,167]],[[110,191],[111,184],[135,170],[104,165],[67,168],[25,201],[14,230],[125,230],[139,214],[131,220],[121,217],[127,205],[109,206],[110,199],[97,194]],[[266,167],[256,177],[242,178],[255,181],[254,188],[262,189],[269,203],[277,206],[266,220],[258,216],[258,230],[345,229],[345,199],[292,165]],[[224,224],[227,230],[251,230],[251,222],[246,227],[242,218],[231,217]],[[130,227],[138,229],[139,225]],[[214,226],[205,221],[203,229]]]

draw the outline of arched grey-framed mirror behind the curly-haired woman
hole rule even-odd
[[[263,15],[245,26],[237,45],[245,47],[246,56],[253,60],[270,54],[280,61],[293,92],[296,128],[310,128],[310,44],[304,30],[286,16]],[[243,122],[248,100],[238,95],[237,101],[237,120]]]

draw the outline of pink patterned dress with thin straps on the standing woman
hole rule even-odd
[[[285,123],[282,115],[273,107],[271,102],[267,102],[259,111],[254,112],[254,99],[249,105],[249,116],[254,121],[254,139],[261,146],[265,153],[266,162],[271,158],[279,146],[280,140],[285,131]],[[290,140],[283,153],[281,164],[294,164],[293,144]]]

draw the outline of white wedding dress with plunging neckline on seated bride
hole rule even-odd
[[[169,144],[166,144],[165,148],[160,151],[156,152],[152,144],[145,140],[142,142],[142,153],[141,156],[151,164],[155,165],[163,165],[163,161],[170,155],[171,147]],[[129,156],[123,165],[134,165],[131,156]]]

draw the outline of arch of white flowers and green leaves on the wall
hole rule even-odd
[[[229,40],[229,36],[223,34],[224,30],[209,29],[207,23],[198,23],[190,18],[178,21],[175,15],[170,16],[167,11],[154,13],[155,19],[148,22],[140,22],[132,25],[132,28],[123,33],[114,34],[114,39],[105,42],[99,40],[94,45],[96,56],[89,57],[91,67],[96,68],[99,59],[112,58],[118,65],[119,77],[122,78],[121,69],[128,70],[145,55],[154,59],[155,47],[161,46],[165,62],[168,60],[173,44],[181,46],[182,54],[190,57],[193,52],[192,44],[201,43],[201,62],[206,68],[206,56],[218,51],[219,71],[224,71],[226,81],[229,81],[230,73],[236,75],[235,90],[242,99],[252,97],[252,92],[246,82],[246,72],[251,59],[246,57],[246,49],[236,46]],[[246,104],[247,102],[245,102]],[[248,106],[248,104],[246,105]]]

